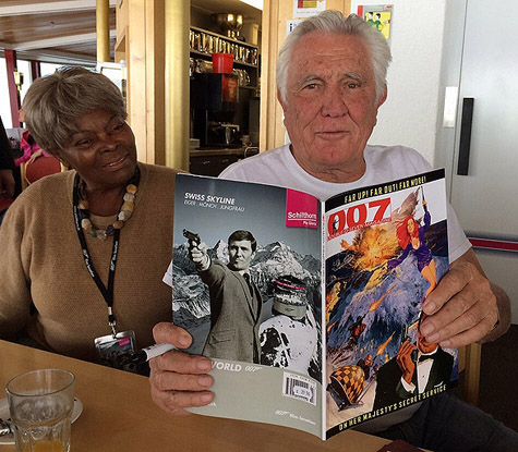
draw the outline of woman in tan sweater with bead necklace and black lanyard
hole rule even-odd
[[[37,143],[71,171],[31,185],[5,216],[0,338],[113,365],[172,316],[161,277],[177,172],[136,161],[124,100],[101,74],[38,78],[24,110]]]

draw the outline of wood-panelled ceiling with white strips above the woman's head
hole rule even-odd
[[[117,0],[120,1],[120,0]],[[116,0],[110,0],[111,48],[116,39]],[[96,0],[3,0],[0,49],[17,58],[95,64]]]

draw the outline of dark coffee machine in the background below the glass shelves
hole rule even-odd
[[[201,147],[241,146],[240,126],[233,122],[239,101],[234,74],[195,73],[191,80],[192,135]]]

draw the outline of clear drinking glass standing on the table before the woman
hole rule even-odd
[[[69,452],[74,406],[72,372],[39,369],[14,377],[5,387],[17,452]]]

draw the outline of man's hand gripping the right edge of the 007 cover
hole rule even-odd
[[[492,333],[497,320],[503,320],[502,309],[509,309],[509,298],[502,290],[495,294],[494,289],[474,252],[469,249],[450,265],[424,302],[423,310],[429,317],[421,325],[421,333],[426,341],[443,347],[496,339],[507,330],[503,326],[502,332]],[[508,316],[505,317],[507,322]]]

